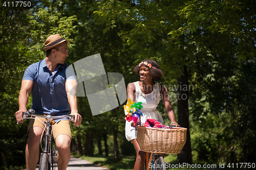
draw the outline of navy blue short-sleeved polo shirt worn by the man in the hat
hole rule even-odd
[[[65,88],[66,69],[69,65],[58,64],[54,74],[46,65],[46,59],[31,64],[25,71],[22,80],[34,82],[32,87],[32,105],[35,113],[66,115],[71,111]]]

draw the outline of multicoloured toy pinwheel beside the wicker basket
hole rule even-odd
[[[128,122],[131,122],[133,120],[133,122],[137,123],[140,115],[143,116],[142,112],[140,111],[140,109],[143,108],[141,102],[135,103],[132,102],[131,99],[128,99],[126,105],[124,105],[123,108],[124,114],[127,116],[125,117],[125,120],[127,120]]]

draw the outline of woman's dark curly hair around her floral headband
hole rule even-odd
[[[146,61],[147,63],[150,63],[153,67],[150,68],[150,75],[152,76],[153,81],[160,81],[161,77],[163,76],[163,72],[160,69],[159,64],[156,61],[147,59],[147,60],[143,60],[142,62]],[[141,64],[144,66],[147,66],[145,64]],[[135,74],[139,75],[140,74],[140,66],[136,65],[135,68],[133,69],[133,71],[135,72]]]

